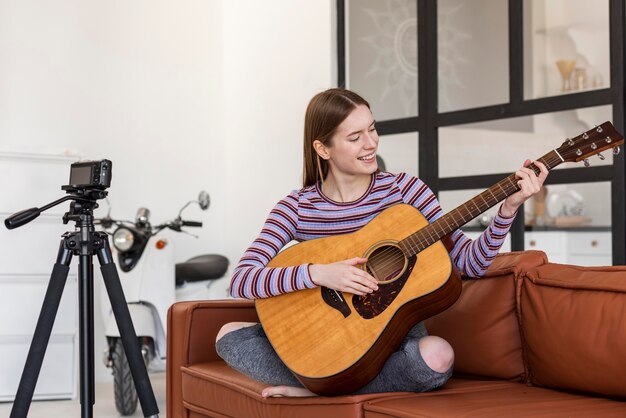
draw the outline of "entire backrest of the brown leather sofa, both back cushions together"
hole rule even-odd
[[[625,266],[501,254],[426,327],[454,348],[456,375],[626,398]]]

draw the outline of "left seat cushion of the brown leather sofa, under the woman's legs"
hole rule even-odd
[[[363,403],[393,398],[407,392],[337,397],[263,398],[267,385],[247,378],[223,361],[183,367],[182,392],[185,408],[199,416],[228,417],[362,417]]]

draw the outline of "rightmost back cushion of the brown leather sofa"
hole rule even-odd
[[[541,266],[521,314],[532,384],[626,398],[626,267]]]

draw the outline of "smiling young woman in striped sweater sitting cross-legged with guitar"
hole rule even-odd
[[[377,148],[375,120],[362,97],[345,89],[330,89],[313,97],[304,122],[304,187],[291,192],[270,212],[261,234],[235,268],[232,296],[265,298],[316,286],[363,295],[378,288],[376,279],[357,267],[366,261],[358,254],[332,264],[266,267],[292,240],[357,231],[398,203],[413,205],[429,222],[442,216],[436,197],[420,179],[378,170]],[[520,191],[502,203],[478,239],[472,241],[459,230],[452,233],[450,257],[461,273],[471,277],[484,274],[517,209],[539,191],[548,171],[536,162],[541,170],[537,176],[526,168],[529,164],[527,160],[516,172]],[[265,397],[314,395],[280,361],[260,324],[226,324],[216,347],[231,367],[271,385],[264,389]],[[450,344],[429,336],[419,323],[378,376],[356,393],[432,390],[448,380],[453,361]]]

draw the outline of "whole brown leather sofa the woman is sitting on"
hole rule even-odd
[[[269,398],[215,353],[222,324],[256,321],[250,301],[172,306],[167,416],[626,417],[626,267],[499,255],[464,280],[460,299],[427,321],[456,353],[454,376],[427,393]]]

